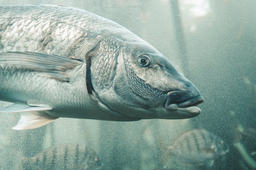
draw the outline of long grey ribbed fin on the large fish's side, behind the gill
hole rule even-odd
[[[82,62],[45,53],[5,52],[0,53],[0,64],[30,70],[47,78],[69,81],[69,71],[82,64]]]

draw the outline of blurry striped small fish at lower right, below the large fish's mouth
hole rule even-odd
[[[214,160],[229,152],[224,140],[204,129],[185,132],[167,150],[182,162],[206,167],[212,167]]]

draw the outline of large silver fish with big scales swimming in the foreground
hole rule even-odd
[[[0,5],[0,112],[15,130],[59,117],[186,119],[204,101],[153,46],[119,24],[62,5]]]

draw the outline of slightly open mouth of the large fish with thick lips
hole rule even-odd
[[[196,105],[203,103],[204,99],[200,92],[191,91],[169,91],[167,93],[167,100],[165,103],[165,108],[170,110],[183,110],[186,112],[199,114],[201,112],[200,108]]]

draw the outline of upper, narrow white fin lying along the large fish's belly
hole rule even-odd
[[[30,106],[25,103],[14,103],[10,106],[4,107],[0,109],[0,112],[31,112],[31,111],[49,111],[52,108],[42,107],[42,106]]]

